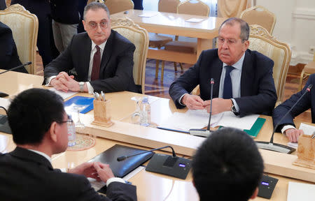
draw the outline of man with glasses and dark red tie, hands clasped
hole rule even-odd
[[[46,82],[62,91],[136,91],[132,76],[135,46],[111,30],[105,4],[85,6],[83,25],[87,33],[73,36],[66,50],[46,66]],[[78,82],[65,73],[72,68]]]

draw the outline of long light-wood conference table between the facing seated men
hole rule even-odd
[[[10,94],[10,96],[14,96],[28,88],[41,87],[43,82],[43,77],[41,76],[15,72],[8,72],[6,77],[9,78],[3,79],[3,77],[0,79],[0,90]],[[90,95],[79,93],[75,96]],[[197,147],[204,141],[204,138],[131,124],[131,115],[136,109],[135,102],[131,100],[134,96],[143,97],[145,95],[127,91],[106,94],[106,97],[111,100],[111,117],[114,122],[113,126],[109,128],[90,124],[93,120],[93,111],[82,114],[80,117],[85,124],[85,128],[81,132],[84,134],[78,135],[92,135],[96,142],[94,147],[83,151],[68,150],[61,154],[55,154],[52,156],[52,166],[54,168],[76,167],[76,165],[89,161],[114,144],[123,144],[140,149],[151,149],[170,144],[174,147],[176,154],[184,158],[191,158]],[[148,99],[152,109],[151,119],[156,124],[159,124],[162,119],[173,112],[186,111],[176,109],[174,103],[167,98],[148,96]],[[263,115],[260,117],[265,118],[266,122],[255,140],[268,141],[272,134],[272,119]],[[281,133],[275,133],[274,142],[286,144],[288,139]],[[0,133],[0,152],[6,153],[13,149],[15,149],[15,144],[12,140],[12,135]],[[160,153],[170,154],[165,151],[160,151]],[[291,164],[297,158],[294,153],[280,154],[267,150],[260,150],[260,153],[265,162],[265,173],[279,179],[274,189],[272,200],[286,200],[289,181],[314,184],[314,170]],[[141,170],[129,181],[137,186],[139,200],[199,200],[193,187],[191,171],[188,177],[183,180]],[[266,199],[255,198],[255,200]]]

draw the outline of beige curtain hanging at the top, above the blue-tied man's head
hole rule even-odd
[[[239,17],[241,11],[251,8],[253,0],[218,0],[218,17]]]

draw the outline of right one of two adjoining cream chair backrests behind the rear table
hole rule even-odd
[[[200,0],[188,0],[179,3],[177,13],[209,16],[210,8],[206,3]]]

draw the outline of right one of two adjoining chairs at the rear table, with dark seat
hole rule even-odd
[[[188,15],[209,16],[210,13],[209,6],[200,0],[194,0],[194,2],[192,2],[192,0],[183,1],[179,3],[176,10],[177,13]],[[165,44],[165,50],[197,54],[197,43],[179,41],[178,37],[176,37],[176,40]],[[179,65],[181,66],[181,70],[183,70],[183,66],[181,65],[181,63]],[[164,66],[165,64],[163,61],[161,69],[161,82],[163,82],[164,77]],[[175,70],[177,70],[176,63],[174,63],[174,68]]]

